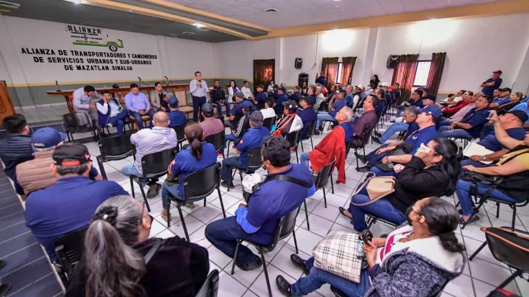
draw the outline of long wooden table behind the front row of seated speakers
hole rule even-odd
[[[139,87],[140,91],[143,92],[145,95],[147,95],[147,98],[149,98],[149,93],[154,90],[154,85],[147,86],[147,87]],[[193,112],[193,104],[191,103],[191,98],[187,98],[187,93],[189,92],[189,85],[164,85],[163,89],[167,92],[167,98],[170,98],[172,96],[175,96],[178,98],[179,103],[179,110],[183,111],[186,115],[188,113]],[[129,87],[120,87],[120,88],[100,88],[96,89],[98,94],[101,95],[101,91],[108,90],[112,94],[112,98],[116,98],[119,100],[121,105],[125,107],[125,95],[130,91]],[[61,90],[61,91],[47,91],[46,93],[48,95],[54,95],[54,96],[63,96],[66,100],[66,104],[68,104],[68,109],[71,113],[74,113],[74,89],[70,90]]]

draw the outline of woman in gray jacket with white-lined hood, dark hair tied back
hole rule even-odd
[[[292,285],[278,276],[276,284],[284,296],[306,295],[325,283],[346,296],[437,296],[466,264],[465,248],[454,234],[457,216],[443,199],[418,200],[406,211],[409,225],[364,243],[367,267],[360,271],[360,283],[315,267],[313,258],[292,254],[293,265],[307,276]]]

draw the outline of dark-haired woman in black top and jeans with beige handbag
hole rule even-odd
[[[428,142],[428,149],[419,149],[400,171],[395,192],[377,201],[371,201],[365,188],[353,195],[349,209],[340,207],[340,213],[351,219],[355,230],[367,229],[364,214],[400,225],[406,221],[406,209],[424,197],[452,195],[461,172],[461,150],[453,140],[439,138]]]

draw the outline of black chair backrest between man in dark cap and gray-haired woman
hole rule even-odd
[[[53,249],[67,279],[74,272],[75,265],[81,260],[85,251],[87,229],[88,226],[63,234],[53,243]]]

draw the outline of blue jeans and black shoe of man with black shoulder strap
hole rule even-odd
[[[237,245],[237,239],[253,241],[254,234],[248,234],[245,230],[242,230],[239,223],[237,223],[236,217],[227,217],[209,223],[206,226],[205,236],[215,248],[218,248],[220,252],[225,253],[227,256],[234,258],[235,248]],[[267,244],[267,243],[263,243]],[[259,256],[253,254],[246,245],[239,245],[239,251],[237,254],[236,263],[248,264],[260,259]]]

